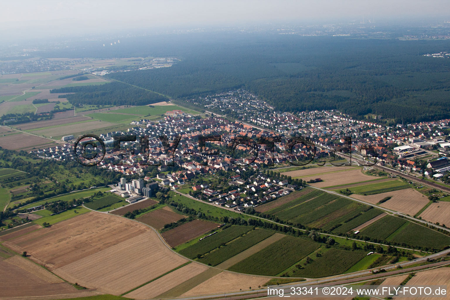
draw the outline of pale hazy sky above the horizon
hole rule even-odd
[[[441,18],[448,0],[14,0],[0,4],[0,36],[255,23]],[[53,28],[52,28],[53,26]],[[3,31],[3,32],[2,32]],[[51,33],[51,32],[47,32]],[[15,33],[14,33],[15,34]]]

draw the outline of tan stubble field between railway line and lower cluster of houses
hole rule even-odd
[[[311,184],[318,188],[325,188],[325,187],[343,185],[343,184],[354,184],[356,182],[376,179],[374,176],[369,176],[369,175],[363,174],[361,172],[361,170],[358,169],[358,170],[348,170],[348,171],[342,171],[342,172],[336,172],[336,173],[329,173],[329,174],[324,174],[324,175],[309,176],[309,177],[302,178],[302,180],[309,181],[311,179],[316,179],[316,178],[320,178],[323,180],[323,181]]]

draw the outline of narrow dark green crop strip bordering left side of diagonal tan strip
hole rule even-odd
[[[222,246],[208,253],[198,261],[203,264],[215,266],[217,264],[220,264],[221,262],[224,262],[225,260],[228,260],[234,255],[241,253],[242,251],[250,248],[251,246],[261,242],[267,237],[270,237],[272,234],[274,234],[273,231],[266,229],[256,229],[250,231],[243,237],[238,237],[234,241],[226,244],[225,246]]]

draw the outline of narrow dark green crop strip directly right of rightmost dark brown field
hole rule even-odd
[[[252,228],[248,226],[230,226],[220,230],[218,233],[210,237],[204,238],[203,240],[180,250],[179,252],[181,255],[194,259],[198,254],[204,255],[218,248],[221,243],[227,243],[234,240],[250,230],[252,230]]]

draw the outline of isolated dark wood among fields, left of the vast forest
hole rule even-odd
[[[121,82],[110,82],[104,85],[70,86],[50,90],[50,93],[75,93],[60,95],[77,107],[81,104],[92,105],[146,105],[169,99],[157,93],[140,89]]]

